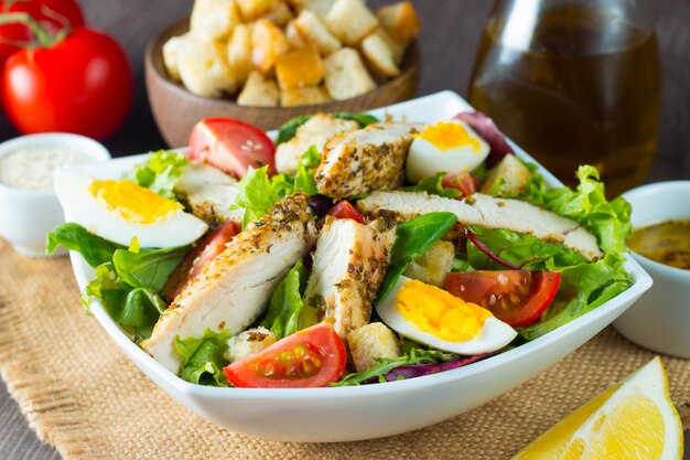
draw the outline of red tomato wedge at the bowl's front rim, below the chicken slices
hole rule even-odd
[[[347,362],[345,345],[331,324],[298,331],[223,371],[244,388],[313,388],[336,382]]]

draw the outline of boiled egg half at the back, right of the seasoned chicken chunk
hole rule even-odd
[[[486,160],[489,150],[488,143],[463,121],[429,125],[412,140],[407,179],[417,183],[439,172],[471,172]]]

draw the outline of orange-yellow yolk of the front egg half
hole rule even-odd
[[[482,332],[493,314],[482,307],[418,280],[402,286],[396,298],[398,312],[420,331],[446,342],[464,342]]]

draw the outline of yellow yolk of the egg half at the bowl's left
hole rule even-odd
[[[98,204],[109,212],[119,214],[125,221],[136,224],[165,221],[182,210],[180,203],[165,200],[128,180],[94,181],[89,191]]]

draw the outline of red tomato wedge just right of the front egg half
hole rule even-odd
[[[561,275],[554,271],[456,271],[445,277],[445,290],[521,328],[551,304],[560,282]]]

